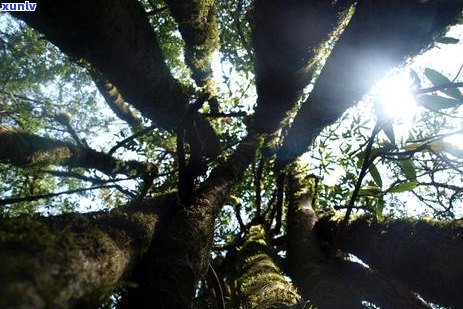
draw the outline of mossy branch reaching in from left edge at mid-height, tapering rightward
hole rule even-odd
[[[94,168],[107,175],[154,175],[155,165],[121,161],[89,147],[56,141],[0,126],[0,162],[22,167],[63,165]]]

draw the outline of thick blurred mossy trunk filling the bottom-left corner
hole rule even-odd
[[[96,308],[140,260],[173,195],[124,211],[0,220],[1,308]]]

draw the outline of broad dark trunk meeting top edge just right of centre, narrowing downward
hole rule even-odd
[[[252,36],[259,96],[255,120],[260,132],[275,131],[309,83],[317,48],[336,26],[338,9],[331,1],[254,2]]]

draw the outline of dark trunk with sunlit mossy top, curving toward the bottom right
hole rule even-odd
[[[322,250],[308,182],[296,173],[288,178],[288,270],[305,299],[321,309],[360,309],[364,301],[380,308],[428,308],[403,285]]]

